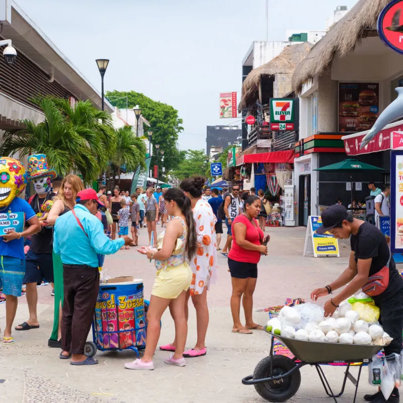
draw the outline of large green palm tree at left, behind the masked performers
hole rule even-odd
[[[79,171],[86,184],[98,179],[115,149],[108,115],[89,101],[78,101],[74,109],[64,99],[41,97],[35,103],[42,109],[44,121],[24,120],[25,129],[7,130],[1,155],[17,151],[21,157],[46,154],[49,166],[60,176]]]

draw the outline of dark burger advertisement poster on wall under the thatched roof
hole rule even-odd
[[[339,83],[339,131],[365,131],[379,112],[378,83]]]

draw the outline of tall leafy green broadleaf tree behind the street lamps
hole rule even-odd
[[[164,163],[161,163],[159,156],[160,177],[162,176],[162,166],[165,172],[169,172],[178,167],[180,163],[180,152],[178,150],[178,135],[183,130],[182,119],[178,117],[178,111],[172,106],[162,102],[153,101],[144,94],[135,91],[108,91],[106,97],[126,97],[129,108],[139,105],[142,115],[150,122],[150,130],[153,130],[152,143],[159,144],[160,150],[164,150]],[[124,98],[111,98],[110,102],[118,108],[126,107]],[[157,153],[154,148],[151,166],[157,165]]]

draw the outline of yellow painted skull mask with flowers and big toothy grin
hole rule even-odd
[[[0,158],[0,208],[8,206],[27,184],[25,168],[20,161]]]

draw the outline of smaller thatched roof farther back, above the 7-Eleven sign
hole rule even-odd
[[[259,98],[259,86],[263,76],[292,74],[295,67],[308,54],[313,45],[309,42],[286,46],[274,59],[253,69],[242,84],[242,98],[238,109],[251,106]]]

